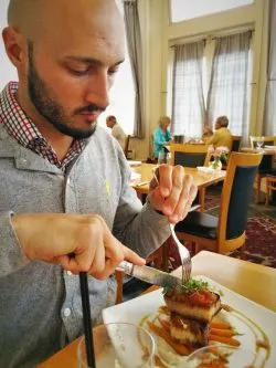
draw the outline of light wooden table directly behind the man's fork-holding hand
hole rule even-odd
[[[149,193],[149,182],[152,179],[152,171],[157,169],[155,164],[136,165],[131,167],[135,174],[135,180],[130,182],[131,187],[136,190],[139,198],[142,194]],[[184,171],[191,175],[193,182],[199,190],[199,204],[201,211],[204,211],[205,204],[205,189],[209,186],[223,181],[225,179],[225,170],[210,170],[209,172],[202,171],[199,168],[184,167]]]

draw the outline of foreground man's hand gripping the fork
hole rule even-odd
[[[159,185],[153,178],[150,182],[150,204],[167,215],[172,223],[183,220],[198,191],[192,177],[185,175],[184,168],[180,165],[160,165],[158,181]]]

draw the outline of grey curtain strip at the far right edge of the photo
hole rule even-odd
[[[263,133],[274,136],[276,135],[276,1],[270,0],[269,7],[269,50]]]

